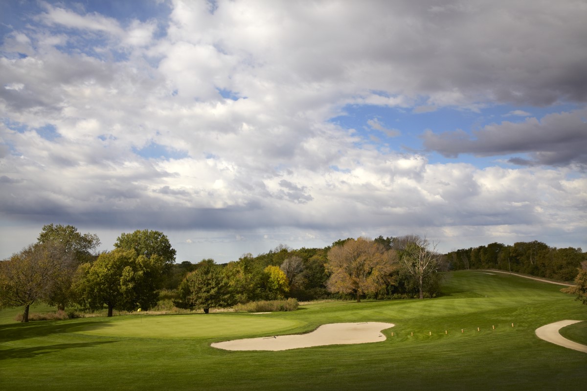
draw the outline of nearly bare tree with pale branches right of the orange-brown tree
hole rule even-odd
[[[436,252],[437,243],[432,243],[432,249],[429,250],[430,242],[426,236],[422,239],[419,236],[411,236],[411,242],[408,242],[402,251],[402,266],[404,270],[414,278],[419,291],[420,298],[424,298],[424,284],[430,277],[436,275],[440,266],[440,254]]]

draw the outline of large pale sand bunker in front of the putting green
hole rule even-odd
[[[215,342],[212,347],[228,351],[285,351],[310,346],[365,344],[385,341],[380,331],[393,326],[393,323],[383,322],[331,323],[308,334],[235,339]]]

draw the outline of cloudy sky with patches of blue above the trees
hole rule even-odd
[[[587,247],[585,1],[0,2],[0,259]]]

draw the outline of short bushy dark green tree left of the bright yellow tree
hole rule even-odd
[[[228,283],[222,276],[221,266],[215,264],[213,259],[200,261],[196,270],[188,274],[180,285],[180,298],[190,307],[203,308],[204,314],[208,314],[210,308],[231,305]]]

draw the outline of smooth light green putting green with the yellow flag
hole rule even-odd
[[[306,322],[245,314],[132,316],[93,324],[80,334],[136,338],[214,338],[287,332]]]

